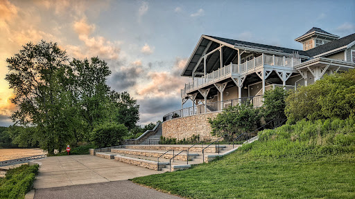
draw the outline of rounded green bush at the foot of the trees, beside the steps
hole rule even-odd
[[[91,141],[98,148],[114,146],[120,144],[127,134],[128,129],[123,124],[103,123],[92,131]]]

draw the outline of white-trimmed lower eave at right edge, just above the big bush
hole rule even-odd
[[[329,67],[340,67],[340,69],[349,69],[349,68],[354,68],[355,63],[349,62],[349,61],[341,61],[338,59],[329,59],[329,58],[324,58],[324,57],[318,57],[315,59],[311,59],[309,61],[304,61],[301,64],[298,64],[295,66],[297,70],[301,70],[303,68],[308,68],[308,67],[322,67],[322,66],[328,66]]]

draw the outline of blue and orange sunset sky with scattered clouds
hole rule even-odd
[[[181,108],[180,77],[201,35],[302,50],[312,27],[355,32],[355,1],[37,1],[0,0],[0,126],[17,110],[6,58],[32,41],[57,42],[69,57],[96,57],[112,70],[107,84],[140,104],[139,124]],[[191,106],[191,102],[184,107]]]

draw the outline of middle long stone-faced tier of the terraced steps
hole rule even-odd
[[[166,153],[166,151],[153,151],[153,150],[140,150],[140,149],[111,149],[111,152],[128,154],[128,155],[140,155],[140,156],[154,157],[154,158],[158,158],[165,153],[161,158],[171,159],[173,158],[174,155],[178,154],[180,151],[169,151],[168,153]],[[189,153],[189,160],[192,160],[198,155],[199,155],[198,153]],[[187,153],[186,152],[180,153],[175,157],[175,159],[187,160]]]

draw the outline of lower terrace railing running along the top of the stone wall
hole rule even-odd
[[[206,113],[212,113],[216,111],[222,111],[221,107],[227,108],[228,106],[236,106],[239,103],[250,103],[254,107],[259,107],[263,105],[263,95],[251,96],[251,97],[242,97],[237,99],[229,99],[220,102],[210,102],[206,104]],[[222,106],[223,104],[223,106]],[[191,106],[188,108],[182,108],[178,111],[173,111],[164,115],[163,122],[166,120],[171,120],[177,117],[186,117],[190,115],[199,115],[205,113],[205,104],[198,104],[196,106]]]

